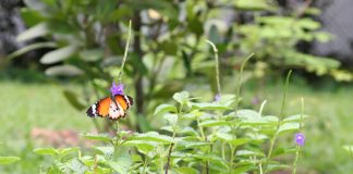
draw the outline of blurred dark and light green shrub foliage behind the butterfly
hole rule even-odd
[[[75,100],[83,99],[74,99],[80,97],[66,92],[78,110],[107,94],[118,72],[115,65],[122,60],[126,39],[122,34],[126,33],[129,20],[132,20],[134,37],[124,71],[130,77],[125,84],[134,86],[138,101],[137,114],[133,114],[136,119],[151,113],[162,99],[192,85],[196,77],[216,92],[206,38],[219,48],[222,78],[233,76],[241,58],[251,52],[257,53],[251,62],[255,66],[252,76],[305,69],[317,75],[331,74],[339,80],[352,78],[349,72],[338,70],[338,61],[296,49],[302,41],[330,39],[329,34],[318,32],[318,22],[301,17],[318,11],[313,8],[282,14],[275,1],[265,0],[25,0],[25,3],[27,7],[21,13],[29,28],[17,40],[42,37],[46,41],[29,44],[10,58],[33,49],[52,49],[40,59],[40,63],[49,66],[46,74],[71,76],[84,84],[86,94],[96,96],[77,103]],[[229,17],[224,18],[228,13]],[[138,123],[131,124],[138,128]]]

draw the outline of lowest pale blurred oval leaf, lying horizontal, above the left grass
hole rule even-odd
[[[83,71],[74,65],[64,64],[51,66],[45,71],[48,76],[77,76],[82,75]]]

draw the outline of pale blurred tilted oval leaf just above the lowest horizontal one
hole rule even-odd
[[[76,46],[66,46],[50,52],[47,52],[41,57],[40,63],[42,64],[52,64],[63,61],[74,54],[77,50]]]

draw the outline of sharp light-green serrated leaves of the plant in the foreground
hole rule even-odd
[[[276,159],[295,152],[295,146],[275,147],[273,153],[268,153],[266,145],[275,135],[297,132],[300,115],[281,120],[263,115],[264,108],[234,111],[234,95],[202,102],[182,91],[173,99],[175,105],[161,104],[155,111],[156,117],[165,119],[160,133],[118,129],[114,137],[84,134],[84,138],[100,142],[89,153],[78,148],[40,148],[35,152],[56,159],[47,173],[261,173],[290,169]]]

